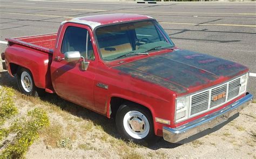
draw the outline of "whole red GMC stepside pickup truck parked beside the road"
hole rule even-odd
[[[10,38],[3,67],[26,95],[57,93],[116,118],[126,139],[193,138],[252,100],[248,68],[176,47],[156,19],[71,18],[58,33]]]

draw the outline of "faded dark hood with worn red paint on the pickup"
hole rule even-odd
[[[211,86],[248,71],[241,64],[211,55],[174,50],[114,67],[153,84],[164,86],[177,94],[191,92],[198,86]]]

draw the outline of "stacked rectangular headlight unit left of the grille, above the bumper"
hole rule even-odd
[[[190,96],[178,98],[176,100],[176,122],[185,120],[188,118],[188,108],[190,106]]]

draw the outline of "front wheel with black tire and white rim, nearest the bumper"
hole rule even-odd
[[[134,127],[137,129],[133,129],[134,127],[130,124],[130,121],[131,123],[133,122],[133,125],[135,125]],[[144,123],[144,126],[142,123]],[[122,135],[123,138],[132,140],[136,143],[143,141],[149,142],[156,137],[154,135],[154,126],[151,112],[145,109],[145,107],[142,105],[134,103],[122,104],[116,114],[116,126],[119,134]],[[147,128],[149,129],[148,131]],[[138,129],[142,131],[137,131]]]

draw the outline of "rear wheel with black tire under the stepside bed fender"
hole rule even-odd
[[[24,77],[24,74],[25,74],[25,77]],[[27,81],[27,82],[24,82],[24,81]],[[45,91],[43,89],[36,87],[30,70],[26,68],[22,68],[22,67],[18,68],[17,83],[18,83],[19,91],[21,91],[25,95],[35,96],[35,97],[41,97],[45,95]]]

